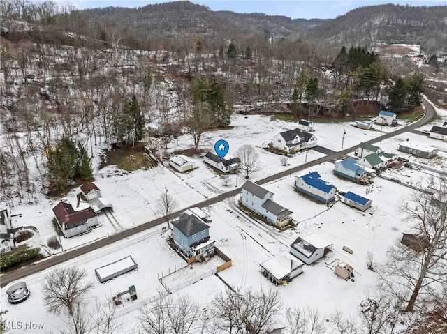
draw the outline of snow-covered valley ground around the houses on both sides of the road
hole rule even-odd
[[[433,124],[447,121],[446,111],[437,109],[437,112],[440,119]],[[232,125],[234,126],[232,130],[206,132],[200,145],[201,148],[211,150],[214,142],[218,139],[226,139],[230,144],[229,154],[235,155],[235,151],[242,144],[254,144],[260,155],[260,168],[251,175],[252,181],[286,169],[279,162],[278,155],[263,151],[261,145],[272,139],[278,132],[295,128],[295,123],[270,121],[268,116],[235,115]],[[420,130],[425,128],[431,128],[431,125],[426,125]],[[383,126],[383,132],[392,130],[394,128]],[[380,135],[379,130],[361,130],[354,128],[350,123],[317,123],[314,134],[318,139],[318,145],[340,151],[344,131],[346,131],[343,142],[345,149]],[[445,142],[413,133],[383,140],[376,143],[376,146],[381,147],[383,151],[398,153],[398,143],[407,138],[428,145],[440,146],[441,149],[447,151]],[[171,143],[169,150],[187,149],[192,145],[192,139],[189,136],[180,137],[178,142],[179,146],[175,142]],[[322,156],[316,151],[309,151],[307,156],[300,153],[289,158],[288,163],[291,165],[290,167],[293,167],[301,165],[305,160],[315,160]],[[235,176],[231,176],[229,185],[224,186],[219,176],[205,165],[203,159],[195,159],[198,169],[185,174],[179,174],[173,169],[163,166],[129,174],[117,172],[116,167],[112,166],[95,169],[95,183],[101,189],[103,197],[113,204],[113,217],[116,220],[108,219],[101,214],[99,218],[101,227],[82,236],[70,239],[62,238],[64,251],[152,220],[156,217],[154,203],[164,191],[165,186],[170,194],[175,195],[180,208],[193,206],[203,199],[235,188]],[[427,163],[426,160],[418,158],[411,160],[421,164]],[[447,153],[440,151],[439,158],[429,162],[434,169],[445,169],[447,168],[446,161]],[[98,157],[95,158],[95,163],[98,163]],[[242,289],[249,287],[259,289],[261,286],[277,289],[284,305],[309,305],[318,309],[321,314],[329,314],[337,309],[343,310],[346,315],[358,314],[358,305],[364,298],[365,292],[374,289],[375,282],[378,280],[376,273],[367,270],[367,252],[374,255],[376,263],[380,263],[386,259],[388,247],[399,241],[403,231],[408,231],[409,225],[404,222],[398,210],[404,198],[411,195],[412,190],[402,184],[375,178],[373,191],[366,194],[365,186],[337,178],[332,174],[332,169],[333,164],[325,162],[296,175],[316,170],[321,174],[322,179],[336,185],[338,190],[356,192],[358,195],[372,199],[372,208],[362,213],[341,202],[336,202],[333,206],[328,207],[311,201],[293,190],[295,174],[264,185],[265,188],[274,192],[275,202],[293,211],[293,219],[299,222],[298,227],[294,230],[288,229],[279,233],[272,227],[252,220],[237,207],[238,197],[203,208],[212,218],[210,237],[216,241],[217,248],[230,257],[233,263],[233,266],[219,273],[220,278],[233,287]],[[396,177],[411,181],[414,185],[423,183],[430,177],[430,174],[423,171],[410,169],[402,169],[402,171],[394,173]],[[237,182],[239,186],[242,185],[243,176],[239,176]],[[77,192],[78,189],[75,189],[66,194],[66,198],[73,204],[73,207],[76,204]],[[21,217],[13,218],[13,226],[31,225],[37,227],[39,233],[34,236],[31,243],[44,246],[47,238],[54,235],[51,220],[53,217],[52,207],[55,204],[57,201],[42,197],[35,205],[14,206],[11,208],[12,214],[21,214]],[[286,286],[274,287],[261,275],[259,264],[279,252],[288,250],[289,245],[298,236],[307,236],[314,232],[333,244],[332,252],[325,258],[312,266],[304,266],[304,273]],[[159,291],[166,291],[159,282],[159,276],[162,273],[166,275],[182,266],[184,268],[177,271],[177,275],[171,274],[170,278],[166,277],[166,280],[171,280],[167,284],[173,287],[178,284],[186,285],[175,294],[188,294],[202,305],[201,308],[205,312],[214,296],[225,291],[225,284],[215,275],[203,277],[198,282],[195,278],[210,272],[210,268],[218,266],[222,262],[219,259],[212,259],[216,262],[193,264],[191,269],[168,246],[166,243],[167,233],[162,231],[161,226],[155,227],[110,245],[108,248],[98,250],[94,254],[67,261],[61,267],[76,266],[87,271],[87,280],[94,283],[89,295],[91,303],[94,303],[95,299],[111,301],[114,294],[135,285],[138,300],[131,303],[124,299],[123,305],[119,306],[120,316],[126,319],[123,333],[136,333],[135,318],[142,302],[152,300],[159,294]],[[342,250],[345,245],[353,250],[352,255]],[[126,273],[102,284],[98,281],[94,273],[96,268],[128,255],[131,255],[138,264],[137,271]],[[335,265],[341,261],[353,266],[356,278],[354,282],[346,282],[333,273]],[[24,332],[16,329],[10,333],[50,333],[57,326],[64,326],[61,317],[48,315],[43,306],[40,289],[43,278],[49,272],[50,270],[47,270],[24,278],[31,290],[30,298],[24,303],[8,304],[6,298],[8,287],[1,289],[1,309],[8,310],[3,319],[14,323],[31,321],[44,324],[44,330],[28,329]],[[337,301],[336,304],[335,301]],[[130,320],[127,321],[128,319]]]

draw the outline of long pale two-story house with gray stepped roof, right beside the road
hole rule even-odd
[[[276,227],[284,227],[291,221],[292,211],[273,202],[273,192],[251,181],[242,185],[241,202]]]

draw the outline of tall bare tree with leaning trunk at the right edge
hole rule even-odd
[[[447,283],[447,174],[431,179],[423,192],[413,192],[401,211],[413,223],[418,251],[404,245],[390,250],[381,276],[396,293],[410,294],[405,311],[412,312],[421,293],[432,284]]]

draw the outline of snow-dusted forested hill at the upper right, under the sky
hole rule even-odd
[[[447,48],[447,6],[365,6],[310,29],[318,43],[420,44],[432,54]]]

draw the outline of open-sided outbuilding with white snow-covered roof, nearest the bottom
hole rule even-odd
[[[302,273],[304,264],[289,252],[281,252],[260,264],[261,273],[275,285],[286,284]]]

